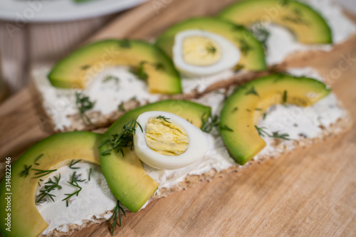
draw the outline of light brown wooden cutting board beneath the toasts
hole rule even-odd
[[[214,15],[231,0],[152,0],[128,11],[96,34],[152,40],[172,23]],[[350,57],[349,67],[345,57]],[[356,38],[331,53],[290,60],[328,79],[356,120]],[[53,133],[32,86],[0,106],[0,159],[13,161]],[[106,223],[72,236],[110,236]],[[356,236],[356,127],[312,147],[300,148],[154,201],[127,214],[115,236]]]

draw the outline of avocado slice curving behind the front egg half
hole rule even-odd
[[[132,119],[147,111],[172,112],[201,127],[201,117],[209,116],[211,108],[196,102],[185,100],[162,100],[127,112],[122,115],[103,135],[103,142],[112,139],[112,135],[120,134],[122,127]],[[142,168],[140,159],[135,151],[124,148],[121,152],[110,150],[108,143],[100,146],[100,162],[105,179],[108,181],[112,194],[132,212],[139,211],[158,188],[157,181],[153,180]]]

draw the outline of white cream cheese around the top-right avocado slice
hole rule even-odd
[[[333,44],[340,44],[347,40],[353,33],[356,33],[356,26],[350,19],[342,14],[342,8],[332,0],[308,0],[305,1],[313,9],[318,11],[331,28]],[[268,65],[281,63],[287,56],[295,52],[305,51],[331,51],[332,45],[305,45],[298,43],[295,36],[282,26],[268,24],[266,26],[270,32],[267,40],[266,61]]]

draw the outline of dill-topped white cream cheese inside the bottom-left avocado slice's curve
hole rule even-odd
[[[62,188],[51,191],[51,194],[55,195],[53,196],[55,201],[46,197],[45,201],[36,204],[38,211],[48,223],[48,227],[43,231],[43,234],[51,232],[53,229],[66,232],[70,225],[81,226],[84,221],[95,221],[94,218],[108,219],[111,213],[105,213],[112,211],[116,206],[117,199],[112,195],[98,165],[78,162],[73,167],[79,167],[79,169],[70,169],[68,166],[61,167],[41,182],[37,195],[40,194],[39,190],[43,189],[50,178],[53,181],[54,177],[61,174],[59,185]],[[90,169],[92,169],[92,172],[89,181]],[[71,181],[73,172],[76,172],[78,179],[85,181],[78,182],[82,190],[78,196],[70,197],[68,206],[66,206],[66,201],[62,201],[67,197],[65,194],[72,194],[78,190],[78,188],[67,183]]]

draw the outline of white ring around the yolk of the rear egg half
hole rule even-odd
[[[221,49],[221,58],[213,65],[199,66],[186,63],[183,55],[183,41],[184,38],[192,36],[202,36],[210,38]],[[186,76],[211,75],[221,71],[233,68],[239,63],[241,52],[233,43],[216,33],[202,30],[187,30],[177,33],[174,37],[174,46],[172,48],[173,62],[177,70]]]

